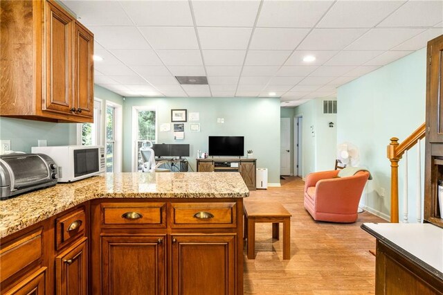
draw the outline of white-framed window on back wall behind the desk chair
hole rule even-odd
[[[156,109],[150,107],[133,107],[132,111],[132,130],[135,138],[133,154],[133,171],[142,171],[143,160],[141,159],[140,149],[145,141],[156,142]]]

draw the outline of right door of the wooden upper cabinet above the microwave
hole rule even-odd
[[[74,107],[77,114],[93,117],[93,37],[75,23],[74,30]],[[81,109],[81,111],[80,111]]]

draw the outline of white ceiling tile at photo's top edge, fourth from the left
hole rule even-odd
[[[265,0],[258,27],[311,28],[334,1]]]

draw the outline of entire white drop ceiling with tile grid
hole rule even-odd
[[[440,0],[62,3],[94,33],[96,84],[122,96],[276,96],[293,107],[443,34]]]

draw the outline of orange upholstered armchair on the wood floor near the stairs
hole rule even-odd
[[[339,170],[310,173],[305,181],[305,209],[314,220],[355,222],[368,171],[338,177]]]

